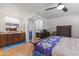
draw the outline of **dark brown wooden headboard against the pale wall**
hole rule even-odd
[[[57,36],[71,37],[71,25],[57,26]]]

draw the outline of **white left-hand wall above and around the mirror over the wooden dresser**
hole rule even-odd
[[[5,31],[5,21],[4,18],[6,16],[12,16],[12,17],[17,17],[20,19],[20,27],[19,31],[23,30],[23,21],[26,21],[27,19],[24,19],[28,17],[31,13],[25,13],[21,8],[19,8],[16,4],[9,4],[9,3],[2,3],[0,4],[0,32]]]

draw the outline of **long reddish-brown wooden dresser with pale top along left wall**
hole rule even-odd
[[[25,41],[25,32],[0,34],[0,47]]]

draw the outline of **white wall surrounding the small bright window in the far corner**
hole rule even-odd
[[[43,29],[47,29],[47,20],[39,15],[33,15],[36,17],[36,19],[33,19],[33,17],[29,18],[29,31],[32,31],[32,38],[35,38],[35,33],[41,31],[42,29],[36,29],[36,25],[34,23],[35,20],[41,19],[43,20]]]

